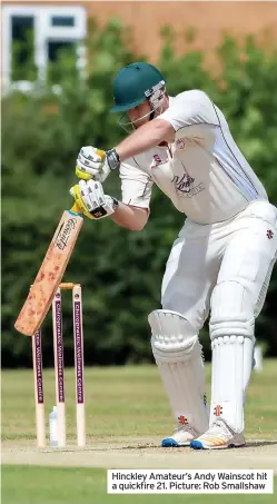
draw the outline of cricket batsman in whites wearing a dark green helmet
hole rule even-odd
[[[70,190],[77,204],[91,219],[110,217],[139,231],[156,184],[187,217],[166,265],[162,308],[148,317],[152,354],[177,423],[161,445],[243,446],[255,318],[277,256],[277,209],[205,92],[170,97],[157,68],[135,62],[117,73],[113,98],[111,112],[121,113],[119,123],[129,135],[107,152],[81,148],[77,175],[82,180]],[[121,201],[102,188],[115,169]],[[209,412],[198,339],[208,315]]]

